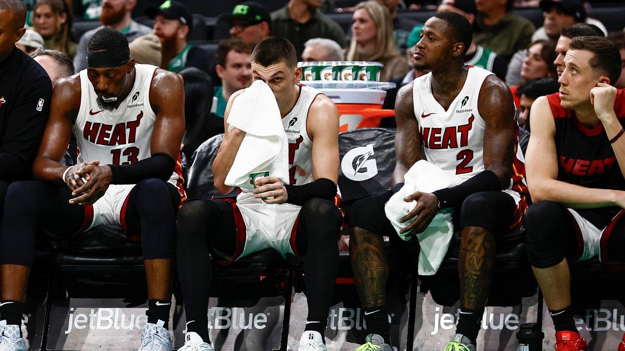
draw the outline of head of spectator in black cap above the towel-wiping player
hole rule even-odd
[[[266,7],[253,1],[242,2],[232,9],[230,35],[254,47],[271,35],[271,15]]]

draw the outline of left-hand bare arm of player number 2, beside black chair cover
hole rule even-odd
[[[421,159],[421,135],[419,122],[414,115],[412,84],[414,82],[401,87],[395,101],[397,134],[395,136],[396,164],[392,177],[393,187],[404,182],[404,174]]]

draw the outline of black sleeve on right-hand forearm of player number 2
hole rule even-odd
[[[471,194],[482,191],[501,190],[501,182],[494,172],[486,170],[479,172],[455,187],[436,190],[432,194],[439,200],[438,207],[446,209],[462,205],[464,199]]]

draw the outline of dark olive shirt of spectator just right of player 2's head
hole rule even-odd
[[[508,13],[493,26],[486,26],[482,18],[476,17],[477,31],[473,33],[476,44],[492,50],[510,61],[514,52],[527,49],[536,27],[529,20]]]

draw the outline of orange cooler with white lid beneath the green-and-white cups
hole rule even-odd
[[[389,82],[302,82],[319,89],[339,109],[339,132],[358,128],[376,128],[382,118],[395,116],[394,110],[382,109],[386,89],[395,87]]]

